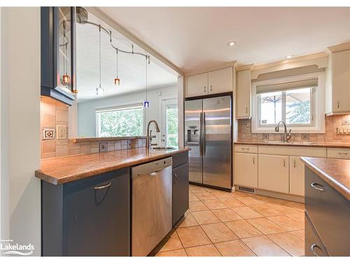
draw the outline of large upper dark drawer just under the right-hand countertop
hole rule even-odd
[[[350,203],[305,168],[305,208],[330,256],[349,256]]]

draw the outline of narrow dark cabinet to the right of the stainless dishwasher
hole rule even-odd
[[[189,207],[188,195],[188,152],[173,156],[172,224],[186,213]]]

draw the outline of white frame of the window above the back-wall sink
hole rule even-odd
[[[287,124],[287,128],[292,130],[292,133],[324,133],[325,132],[325,72],[316,72],[311,74],[302,74],[281,79],[269,79],[266,81],[256,81],[252,83],[252,116],[251,129],[252,133],[275,133],[274,124],[260,123],[260,95],[256,94],[256,87],[260,85],[273,85],[278,83],[286,83],[291,81],[303,81],[306,79],[317,79],[318,86],[312,88],[310,101],[311,123]],[[293,89],[290,89],[293,90]],[[283,105],[286,104],[286,95],[282,94],[282,119],[286,121],[286,109]],[[317,110],[316,110],[317,109]],[[279,133],[283,133],[280,130]]]

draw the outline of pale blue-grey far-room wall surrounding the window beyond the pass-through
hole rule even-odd
[[[161,92],[161,95],[158,95]],[[177,97],[177,87],[158,88],[148,90],[148,101],[150,107],[146,108],[146,124],[155,119],[160,124],[160,100],[165,97]],[[132,104],[144,102],[146,98],[145,91],[141,93],[130,93],[113,97],[105,97],[100,100],[90,100],[87,102],[78,102],[78,135],[96,137],[96,114],[95,110],[104,107],[115,107],[123,104]],[[145,133],[146,134],[146,133]]]

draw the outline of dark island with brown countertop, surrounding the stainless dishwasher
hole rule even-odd
[[[163,166],[169,160],[166,216],[170,228],[174,226],[188,210],[189,150],[139,147],[42,160],[36,171],[41,179],[42,255],[132,255],[132,170],[144,163]],[[155,176],[157,171],[150,177],[163,176]],[[150,195],[157,189],[137,192]]]

